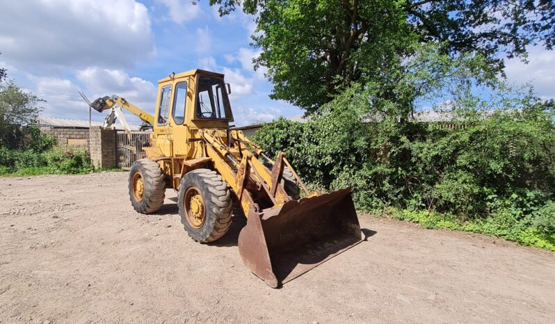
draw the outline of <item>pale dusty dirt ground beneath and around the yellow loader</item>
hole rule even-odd
[[[367,241],[271,289],[241,263],[244,220],[200,245],[173,197],[144,216],[126,173],[1,178],[0,322],[555,321],[552,252],[360,216]]]

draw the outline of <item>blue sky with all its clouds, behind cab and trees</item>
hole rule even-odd
[[[0,67],[45,99],[42,115],[55,118],[88,120],[79,90],[91,100],[119,95],[154,113],[157,81],[195,68],[225,74],[237,126],[303,115],[270,99],[264,68],[253,70],[253,17],[240,10],[219,17],[216,7],[198,2],[0,0]],[[507,60],[508,80],[555,98],[555,52],[532,46],[528,60]],[[93,111],[93,120],[104,117]]]

